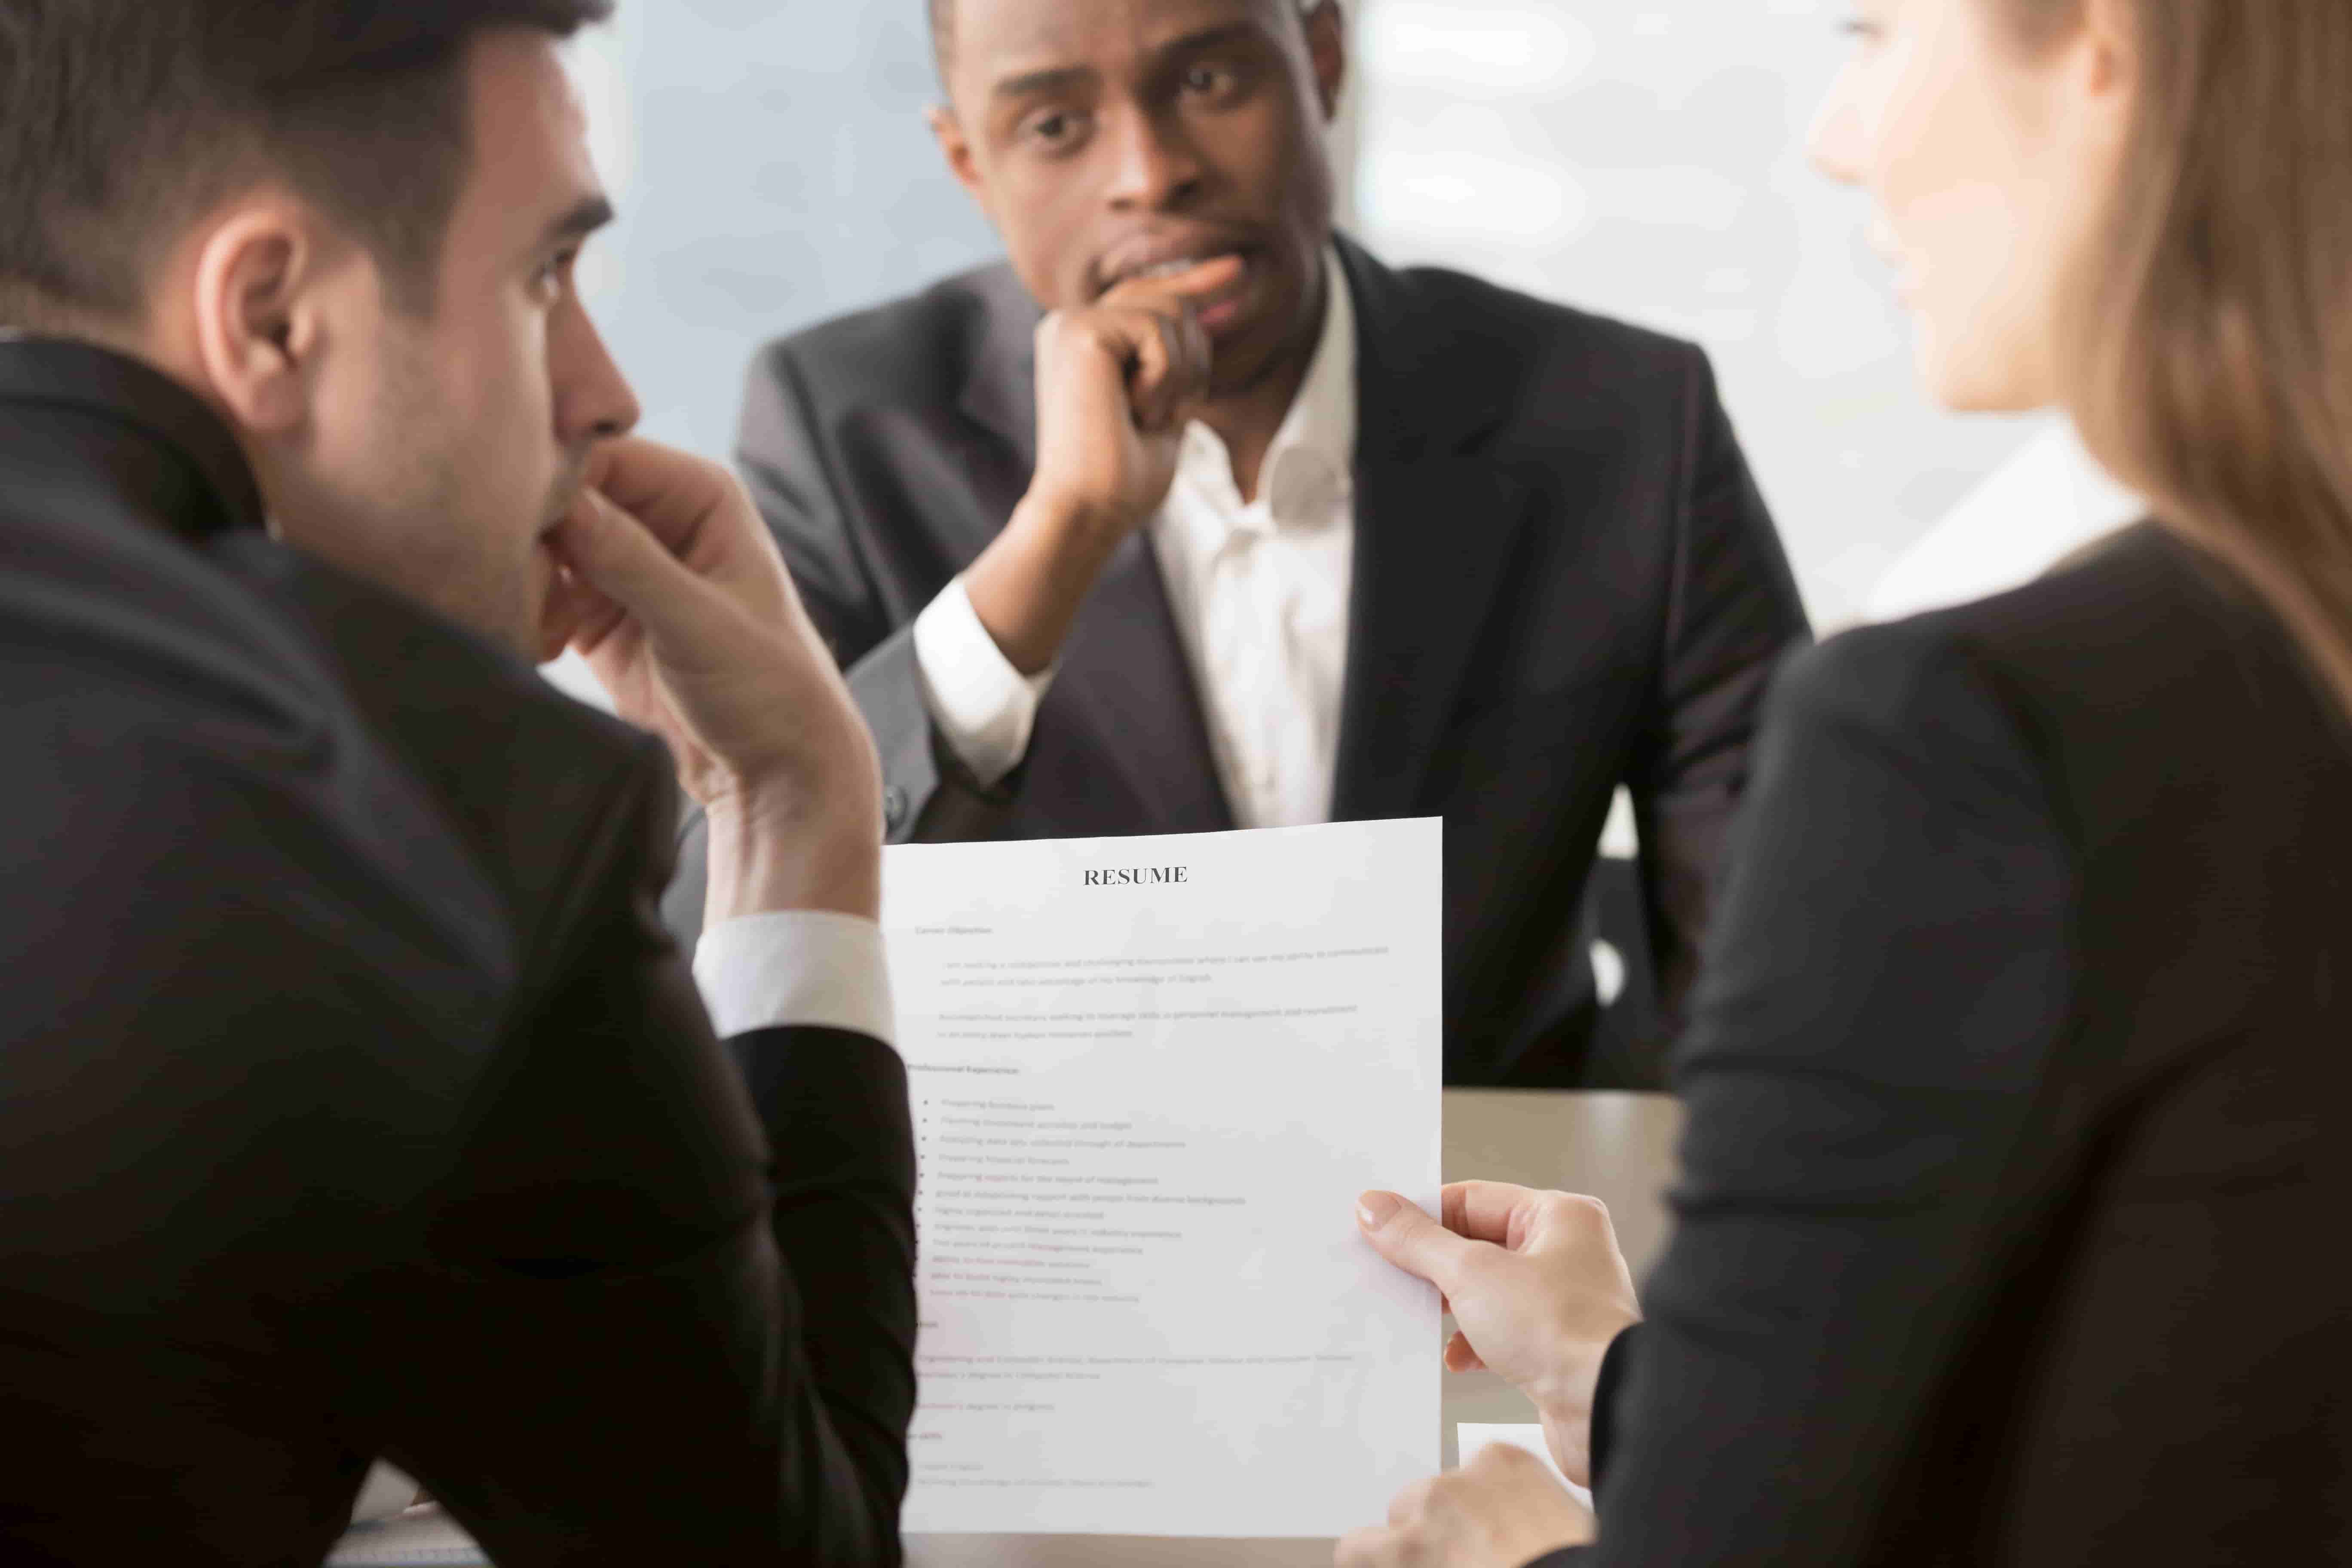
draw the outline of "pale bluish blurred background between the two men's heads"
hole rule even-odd
[[[762,341],[995,254],[922,0],[621,0],[574,59],[621,207],[586,292],[656,440],[727,456]]]

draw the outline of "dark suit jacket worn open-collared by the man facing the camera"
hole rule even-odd
[[[1632,788],[1672,999],[1804,609],[1696,348],[1341,254],[1359,458],[1334,816],[1446,818],[1446,1079],[1569,1081],[1609,799]],[[931,731],[913,623],[1028,489],[1035,327],[985,268],[769,346],[743,475],[882,743],[896,839],[1232,827],[1145,538],[1087,602],[1004,788],[971,788]]]

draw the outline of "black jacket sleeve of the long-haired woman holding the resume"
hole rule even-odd
[[[2037,1119],[2070,896],[1962,651],[1898,630],[1795,661],[1675,1060],[1677,1227],[1623,1347],[1599,1544],[1562,1566],[1907,1561],[1889,1542],[1938,1523],[1938,1408],[2065,1161]]]

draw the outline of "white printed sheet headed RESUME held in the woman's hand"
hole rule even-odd
[[[1439,1465],[1442,825],[884,856],[910,1535],[1343,1535]]]

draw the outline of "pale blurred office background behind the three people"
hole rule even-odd
[[[2049,421],[1919,395],[1863,200],[1804,162],[1842,0],[1345,2],[1355,233],[1703,343],[1823,628],[2129,510]],[[755,343],[995,252],[924,127],[922,0],[623,2],[579,68],[623,209],[586,287],[649,435],[724,456]]]

